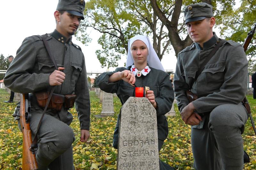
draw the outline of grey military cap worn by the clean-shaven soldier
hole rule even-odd
[[[207,3],[197,3],[184,8],[185,24],[191,21],[202,20],[206,17],[213,17],[212,5]]]

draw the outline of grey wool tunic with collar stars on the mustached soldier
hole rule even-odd
[[[90,97],[87,85],[84,54],[80,47],[66,40],[58,31],[42,35],[48,42],[57,67],[64,67],[66,74],[62,85],[55,86],[54,93],[76,94],[75,106],[80,122],[80,129],[90,129]],[[13,59],[4,77],[4,84],[14,92],[31,93],[49,89],[49,76],[55,70],[42,38],[37,35],[25,38],[16,57]],[[30,95],[31,112],[42,113],[36,99]],[[51,109],[47,114],[54,115]],[[70,124],[72,115],[65,109],[59,112],[62,122]]]

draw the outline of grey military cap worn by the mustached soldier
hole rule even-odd
[[[84,19],[84,0],[59,0],[56,10],[67,11],[70,14],[81,16]]]

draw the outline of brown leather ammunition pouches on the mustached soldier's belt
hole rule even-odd
[[[41,90],[41,91],[35,92],[36,101],[39,107],[42,107],[42,108],[45,107],[46,102],[49,98],[49,94],[50,92],[48,92],[47,90]],[[75,94],[61,95],[61,94],[53,93],[48,108],[59,112],[63,104],[65,109],[74,107],[75,100],[76,100]]]

